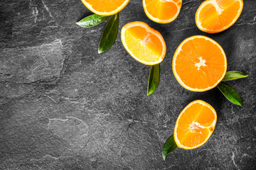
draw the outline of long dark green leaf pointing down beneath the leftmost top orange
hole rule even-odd
[[[114,14],[111,16],[110,21],[107,22],[107,26],[102,34],[102,38],[100,39],[100,45],[98,53],[105,52],[109,50],[110,47],[114,44],[114,41],[117,38],[118,33],[118,26],[119,26],[119,14]]]

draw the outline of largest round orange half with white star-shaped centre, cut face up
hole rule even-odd
[[[172,67],[181,86],[190,91],[207,91],[224,78],[227,59],[218,42],[195,35],[178,46]]]

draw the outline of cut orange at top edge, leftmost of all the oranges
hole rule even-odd
[[[82,0],[82,3],[93,13],[100,16],[111,16],[127,6],[129,0]]]

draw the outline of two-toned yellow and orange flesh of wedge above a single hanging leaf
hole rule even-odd
[[[129,50],[145,62],[156,62],[163,52],[163,45],[154,35],[156,31],[150,28],[150,32],[142,26],[128,28],[125,33],[125,42]],[[156,33],[157,34],[157,33]]]

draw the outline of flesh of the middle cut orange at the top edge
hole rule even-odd
[[[145,0],[146,11],[154,18],[166,21],[174,18],[181,9],[181,0]]]

